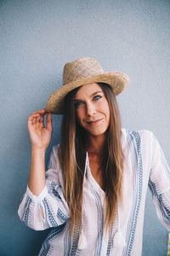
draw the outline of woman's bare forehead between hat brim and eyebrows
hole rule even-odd
[[[90,95],[94,94],[97,91],[102,91],[99,84],[96,84],[96,83],[85,84],[85,85],[82,85],[79,90],[77,90],[76,97],[81,97],[81,96],[84,96],[84,95],[87,95],[87,96],[89,95],[90,96]]]

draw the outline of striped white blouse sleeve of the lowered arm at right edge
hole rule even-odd
[[[149,188],[157,217],[170,231],[170,169],[156,137],[151,134],[152,165]]]

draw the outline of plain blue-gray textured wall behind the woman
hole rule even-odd
[[[153,131],[170,159],[170,2],[165,0],[0,1],[0,255],[37,255],[48,231],[21,224],[31,144],[26,118],[62,83],[67,61],[93,56],[131,79],[117,97],[122,126]],[[49,152],[59,143],[53,116]],[[166,255],[167,230],[146,202],[143,256]]]

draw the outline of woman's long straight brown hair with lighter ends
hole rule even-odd
[[[116,96],[110,85],[98,83],[110,108],[110,126],[106,131],[105,157],[102,162],[102,177],[105,187],[106,230],[116,218],[118,200],[122,200],[122,125]],[[82,187],[87,150],[86,131],[77,123],[74,97],[77,90],[65,96],[64,117],[61,125],[61,164],[64,178],[65,200],[70,208],[71,233],[82,226]]]

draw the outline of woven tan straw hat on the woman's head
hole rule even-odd
[[[125,90],[129,78],[126,74],[113,71],[105,72],[94,58],[83,57],[65,64],[63,70],[63,86],[55,90],[49,97],[46,110],[50,113],[62,114],[65,96],[73,89],[90,83],[106,83],[117,96]]]

